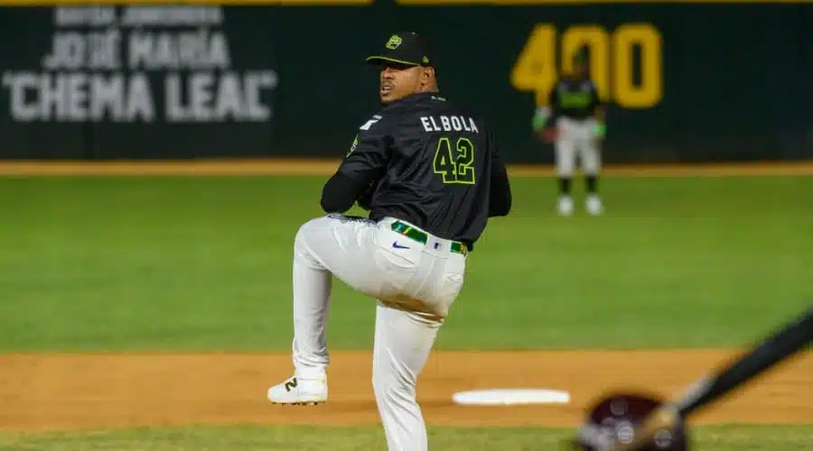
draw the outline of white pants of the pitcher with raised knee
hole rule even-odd
[[[416,379],[463,287],[465,257],[451,253],[448,240],[429,235],[419,244],[393,232],[395,221],[326,216],[300,227],[294,241],[294,367],[301,378],[325,372],[332,275],[378,299],[372,379],[388,448],[424,451]]]

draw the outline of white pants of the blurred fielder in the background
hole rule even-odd
[[[585,175],[598,175],[601,149],[595,138],[595,125],[593,119],[575,121],[560,117],[556,121],[556,175],[573,177],[576,157]]]

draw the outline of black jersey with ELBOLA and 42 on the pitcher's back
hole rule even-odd
[[[332,191],[341,182],[328,181],[325,211],[349,208],[372,186],[370,219],[396,217],[470,245],[489,216],[510,208],[508,174],[488,126],[437,93],[406,97],[370,117],[332,179],[356,188],[340,195]]]

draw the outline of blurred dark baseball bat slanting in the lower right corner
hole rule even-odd
[[[745,382],[751,381],[775,364],[788,360],[811,341],[813,341],[813,308],[808,308],[807,312],[763,338],[751,350],[734,358],[711,376],[692,384],[682,398],[665,403],[651,412],[636,428],[634,438],[630,442],[621,443],[616,437],[610,449],[639,450],[649,444],[659,430],[675,427],[681,419],[686,419],[697,410],[720,400],[724,395],[742,388]]]

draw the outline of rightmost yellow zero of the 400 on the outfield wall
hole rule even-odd
[[[640,48],[640,85],[634,83],[633,51]],[[620,106],[650,108],[663,97],[660,33],[649,23],[621,25],[612,35],[613,93]]]

